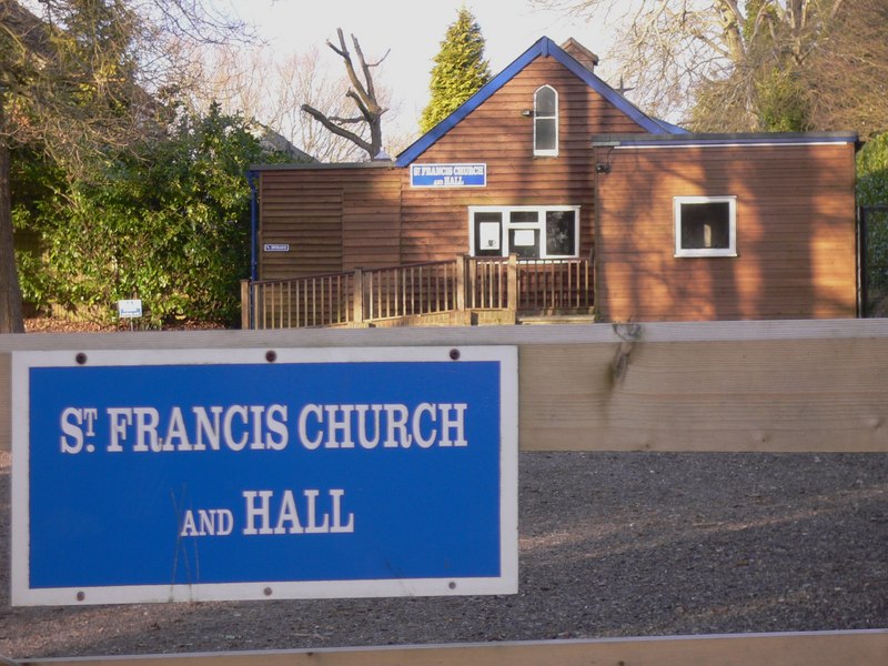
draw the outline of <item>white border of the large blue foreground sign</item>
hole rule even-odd
[[[458,360],[451,354],[456,350]],[[269,363],[268,349],[87,350],[89,366],[230,365]],[[193,585],[125,585],[31,588],[30,382],[31,367],[82,365],[74,351],[12,352],[13,606],[141,604],[259,599],[516,594],[518,591],[518,353],[516,346],[299,347],[274,350],[275,363],[494,361],[500,363],[500,575],[491,577],[386,578],[373,581],[272,581]],[[81,356],[82,359],[82,356]]]

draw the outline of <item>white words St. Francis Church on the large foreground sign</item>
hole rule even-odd
[[[101,415],[97,407],[70,406],[59,416],[59,451],[70,455],[100,447],[114,454],[283,451],[291,441],[307,451],[463,447],[468,446],[467,410],[466,403],[310,403],[300,410],[291,432],[290,410],[282,404],[173,406],[167,412],[107,407]]]

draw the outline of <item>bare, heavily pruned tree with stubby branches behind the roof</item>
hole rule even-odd
[[[345,97],[357,108],[357,115],[326,115],[307,103],[302,104],[302,110],[333,134],[343,137],[360,147],[373,160],[380,157],[382,151],[382,115],[386,109],[380,103],[371,70],[379,67],[389,52],[386,51],[385,56],[376,62],[367,62],[357,38],[352,36],[352,46],[357,57],[357,63],[355,64],[352,53],[345,43],[342,29],[337,29],[336,34],[339,36],[339,46],[330,41],[326,44],[342,58],[345,64],[345,71],[351,84]]]

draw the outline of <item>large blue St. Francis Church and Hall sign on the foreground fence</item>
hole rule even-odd
[[[516,351],[451,352],[14,352],[13,603],[516,592]]]

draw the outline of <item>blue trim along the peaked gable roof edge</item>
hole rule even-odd
[[[592,88],[595,92],[605,98],[608,102],[614,104],[617,109],[623,111],[633,121],[638,123],[646,132],[650,134],[683,134],[685,130],[667,122],[656,120],[642,112],[635,104],[626,100],[616,90],[610,88],[602,79],[588,71],[579,64],[569,53],[562,49],[558,44],[553,42],[547,37],[542,37],[529,49],[518,56],[506,69],[500,72],[496,77],[491,79],[486,85],[482,87],[475,94],[468,98],[458,109],[451,113],[447,118],[442,120],[438,124],[432,128],[428,132],[420,137],[412,145],[404,150],[395,159],[396,167],[406,167],[411,164],[416,158],[434,145],[438,139],[444,137],[454,127],[462,122],[472,111],[481,107],[487,101],[497,90],[508,83],[518,72],[525,67],[531,64],[538,57],[552,57],[566,67],[573,74],[579,78],[584,83]]]

